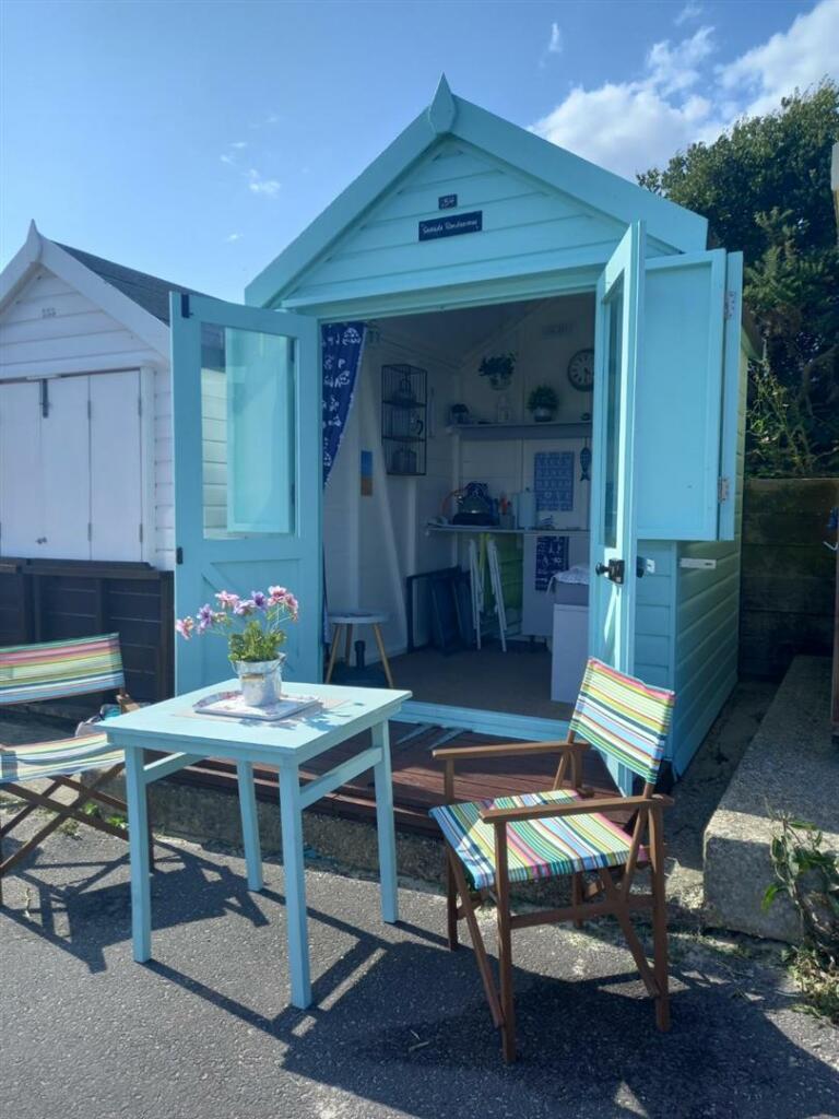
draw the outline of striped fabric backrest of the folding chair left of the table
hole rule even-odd
[[[122,688],[119,633],[0,649],[0,706]]]

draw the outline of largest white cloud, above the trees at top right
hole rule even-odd
[[[650,48],[641,76],[575,86],[531,131],[619,175],[661,166],[679,149],[714,140],[738,116],[776,109],[781,97],[839,76],[839,3],[821,0],[730,63],[714,65],[713,28]]]

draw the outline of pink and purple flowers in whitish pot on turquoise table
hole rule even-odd
[[[298,620],[298,600],[284,586],[252,591],[243,599],[219,591],[218,605],[205,603],[195,618],[179,618],[175,628],[185,640],[215,633],[227,638],[227,656],[242,684],[242,696],[253,707],[276,703],[282,689],[284,626]]]

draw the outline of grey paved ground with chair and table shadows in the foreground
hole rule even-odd
[[[609,924],[515,941],[521,1060],[501,1061],[474,960],[443,900],[307,871],[314,1005],[287,1004],[283,874],[158,847],[154,960],[131,959],[123,844],[58,834],[6,882],[0,1100],[15,1119],[411,1116],[811,1119],[839,1115],[839,1034],[793,1007],[747,941],[672,940],[662,1035]],[[488,920],[490,918],[488,916]]]

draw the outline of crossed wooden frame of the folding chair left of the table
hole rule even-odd
[[[84,693],[73,693],[74,697],[76,695]],[[120,705],[121,713],[129,711],[135,711],[138,704],[129,696],[124,688],[120,688],[116,693],[116,702]],[[79,746],[84,745],[84,737],[78,739]],[[111,765],[109,769],[98,773],[93,781],[85,783],[79,774],[78,778],[69,777],[67,774],[53,774],[46,780],[49,784],[43,792],[36,792],[34,789],[28,788],[26,784],[18,783],[17,781],[4,781],[0,789],[4,792],[13,793],[19,800],[26,801],[23,808],[19,812],[16,812],[10,820],[0,826],[0,905],[3,904],[3,877],[27,857],[27,855],[39,847],[40,844],[56,831],[63,824],[68,820],[75,820],[78,824],[84,824],[86,827],[94,828],[96,831],[103,831],[106,835],[116,836],[119,839],[128,839],[126,828],[117,827],[107,820],[100,819],[97,816],[91,816],[85,812],[85,808],[91,802],[96,802],[110,808],[112,812],[121,812],[128,818],[128,805],[124,800],[120,800],[119,797],[113,797],[111,793],[104,792],[102,786],[106,784],[112,778],[117,777],[125,768],[124,762],[119,762],[116,765]],[[86,771],[87,772],[87,771]],[[70,789],[76,793],[74,800],[66,802],[62,800],[56,800],[55,796],[59,789]],[[148,796],[148,792],[147,792]],[[26,843],[20,846],[13,855],[9,855],[3,858],[3,840],[36,809],[46,808],[54,812],[51,819],[36,831],[34,836],[30,836]],[[154,853],[153,853],[153,837],[151,830],[149,831],[149,865],[154,868]]]

